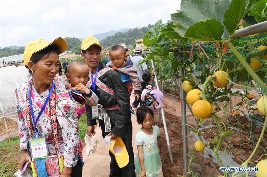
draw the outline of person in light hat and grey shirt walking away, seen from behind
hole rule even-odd
[[[147,71],[147,65],[146,62],[144,62],[143,64],[138,65],[138,62],[140,60],[143,60],[144,58],[141,56],[142,55],[142,46],[137,45],[135,46],[135,49],[133,50],[135,52],[135,56],[132,58],[132,63],[133,66],[136,68],[137,70],[137,75],[139,77],[141,86],[142,86],[142,91],[146,88],[146,82],[142,79],[142,74]],[[137,108],[137,106],[139,105],[142,106],[142,101],[141,101],[141,97],[138,99],[137,96],[135,96],[135,101],[132,103],[132,107],[133,108]]]

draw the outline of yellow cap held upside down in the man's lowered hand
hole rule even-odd
[[[129,163],[129,155],[121,137],[117,137],[113,140],[108,149],[114,154],[119,168],[123,168]]]

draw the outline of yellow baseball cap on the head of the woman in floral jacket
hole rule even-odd
[[[47,42],[45,39],[37,39],[35,41],[29,42],[25,47],[23,53],[24,65],[28,66],[32,54],[39,52],[51,44],[57,45],[60,48],[61,53],[67,50],[68,44],[65,39],[58,37],[51,42]]]

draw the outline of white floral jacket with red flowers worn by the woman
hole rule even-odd
[[[78,162],[79,147],[78,136],[78,114],[75,111],[75,103],[69,98],[68,91],[65,90],[65,85],[59,80],[54,80],[56,87],[56,115],[58,120],[58,138],[59,151],[64,157],[64,166],[74,167]],[[15,89],[15,102],[17,108],[18,129],[20,136],[20,149],[27,149],[29,141],[29,126],[26,122],[26,93],[28,89],[27,83],[19,84]],[[38,116],[45,99],[48,95],[48,90],[42,94],[38,94],[34,86],[31,91],[33,110],[35,118]],[[50,121],[49,104],[44,109],[42,115],[36,124],[39,137],[45,137],[48,143],[48,153],[55,153],[53,144],[52,126]]]

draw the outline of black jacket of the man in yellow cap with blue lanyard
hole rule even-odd
[[[98,71],[102,70],[104,65],[99,62]],[[90,76],[89,76],[90,77]],[[90,80],[90,78],[89,78]],[[121,138],[126,137],[127,125],[131,121],[130,113],[130,98],[125,84],[121,81],[119,73],[114,70],[109,70],[103,74],[99,80],[114,90],[114,96],[106,93],[95,86],[94,93],[99,98],[98,103],[102,104],[104,108],[110,108],[118,104],[119,109],[107,111],[110,120],[114,127],[111,132]],[[91,87],[92,89],[92,87]],[[87,125],[96,125],[96,119],[92,119],[92,109],[88,104],[86,105]]]

